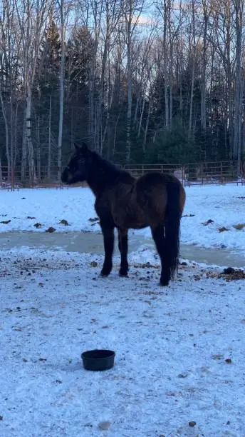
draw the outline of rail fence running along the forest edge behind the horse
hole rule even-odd
[[[245,184],[245,168],[238,161],[217,161],[201,162],[192,164],[125,164],[118,167],[129,171],[132,176],[140,177],[145,173],[160,171],[162,173],[174,174],[182,181],[184,186],[206,185],[206,184]],[[27,175],[28,177],[28,175]],[[85,183],[76,184],[86,186]],[[38,187],[63,188],[63,184],[58,180],[58,168],[52,167],[50,174],[46,166],[41,167],[36,175],[35,183],[29,184],[28,179],[21,183],[21,168],[16,167],[12,175],[8,173],[8,168],[2,166],[0,169],[0,188],[1,189],[21,189]]]

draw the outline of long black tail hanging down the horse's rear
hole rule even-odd
[[[167,206],[165,214],[165,269],[167,276],[174,278],[179,263],[179,233],[182,216],[180,183],[167,184]]]

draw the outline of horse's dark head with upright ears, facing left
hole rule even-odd
[[[75,184],[88,179],[88,173],[92,163],[93,152],[88,149],[86,144],[78,146],[74,144],[75,151],[66,168],[61,174],[61,181],[64,184]]]

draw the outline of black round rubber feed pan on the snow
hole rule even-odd
[[[114,366],[115,352],[107,349],[93,349],[81,354],[83,367],[90,371],[104,371]]]

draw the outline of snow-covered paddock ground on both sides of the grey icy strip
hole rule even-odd
[[[0,198],[2,232],[99,230],[88,189]],[[244,198],[244,186],[187,188],[182,241],[244,253]],[[114,260],[100,278],[100,255],[0,249],[0,436],[244,437],[244,278],[181,260],[162,288],[154,252],[130,254],[129,278]],[[85,371],[90,348],[115,350],[114,368]]]

